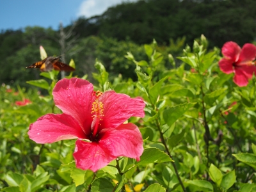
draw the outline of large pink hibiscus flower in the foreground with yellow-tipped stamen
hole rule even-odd
[[[83,79],[62,79],[52,92],[62,114],[41,116],[29,126],[29,138],[36,143],[77,139],[73,154],[77,168],[96,172],[119,156],[140,161],[143,139],[138,127],[124,122],[131,116],[145,116],[142,99],[107,91],[93,92]]]

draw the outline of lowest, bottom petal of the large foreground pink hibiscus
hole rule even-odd
[[[73,156],[77,168],[92,170],[93,172],[108,165],[110,161],[116,158],[111,156],[109,151],[99,143],[89,143],[81,140],[76,141],[76,149]]]

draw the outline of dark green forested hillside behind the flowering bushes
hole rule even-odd
[[[24,83],[38,78],[38,72],[25,67],[40,60],[40,45],[49,55],[65,54],[66,63],[73,58],[77,75],[89,74],[90,79],[98,58],[110,74],[135,78],[135,67],[124,55],[132,50],[136,58],[146,59],[142,45],[153,39],[165,60],[168,53],[175,56],[201,34],[209,40],[209,47],[221,47],[229,40],[241,45],[253,42],[255,7],[253,0],[148,0],[119,4],[102,15],[79,18],[60,31],[36,26],[1,31],[0,81]]]

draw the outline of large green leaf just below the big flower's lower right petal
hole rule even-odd
[[[135,164],[162,163],[173,161],[166,153],[157,148],[146,148],[140,157],[140,161]]]

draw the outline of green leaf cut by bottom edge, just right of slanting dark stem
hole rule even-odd
[[[213,191],[211,182],[207,180],[188,180],[184,182],[185,185],[188,185],[189,191]]]

